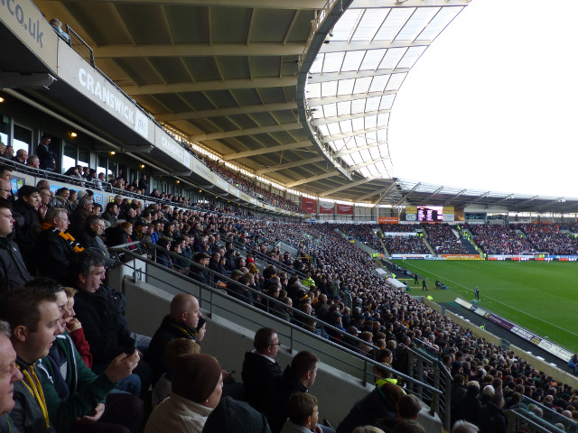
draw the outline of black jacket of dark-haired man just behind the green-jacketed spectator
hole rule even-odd
[[[74,309],[90,345],[95,373],[104,371],[115,356],[135,347],[126,318],[118,312],[119,306],[103,287],[95,293],[79,290],[74,297]]]

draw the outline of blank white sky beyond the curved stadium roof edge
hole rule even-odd
[[[473,0],[394,103],[393,175],[578,197],[578,1]]]

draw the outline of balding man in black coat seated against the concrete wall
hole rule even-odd
[[[172,298],[170,313],[163,318],[161,326],[154,333],[146,354],[146,360],[153,367],[154,382],[166,371],[163,363],[166,345],[175,338],[189,338],[196,341],[199,318],[199,301],[194,296],[179,293]]]

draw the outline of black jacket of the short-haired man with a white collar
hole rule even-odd
[[[255,352],[247,352],[243,361],[241,378],[245,397],[256,410],[261,409],[261,399],[275,379],[283,374],[281,365]]]

